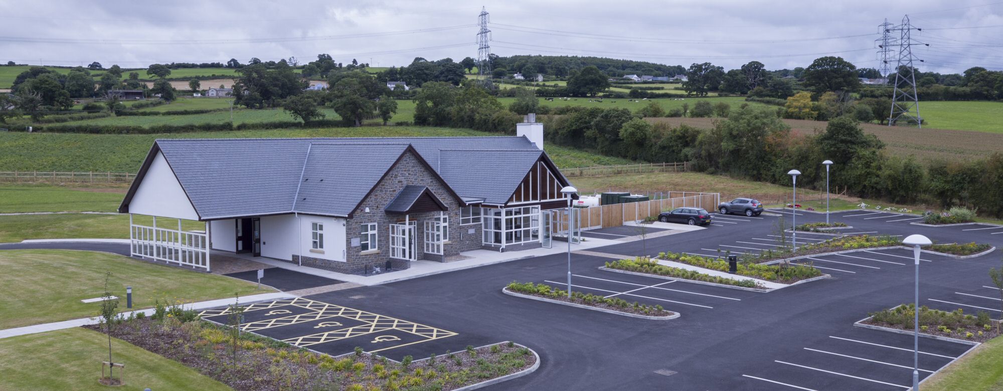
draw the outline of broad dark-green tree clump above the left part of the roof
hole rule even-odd
[[[241,76],[234,82],[234,101],[250,108],[278,106],[307,87],[307,81],[286,64],[271,68],[264,63],[245,65],[237,73]]]

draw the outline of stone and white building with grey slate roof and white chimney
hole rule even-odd
[[[570,182],[543,151],[542,124],[518,133],[157,139],[118,212],[133,256],[203,270],[212,251],[361,275],[549,247]]]

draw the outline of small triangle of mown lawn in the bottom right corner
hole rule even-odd
[[[1003,337],[975,348],[975,351],[928,379],[920,388],[925,391],[1003,390]]]

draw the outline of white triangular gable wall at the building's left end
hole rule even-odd
[[[189,202],[185,189],[168,165],[163,154],[156,152],[153,162],[139,182],[128,212],[136,215],[159,216],[164,218],[199,220],[195,208]]]

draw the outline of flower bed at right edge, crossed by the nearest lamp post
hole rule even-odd
[[[882,326],[898,330],[915,329],[916,307],[903,304],[899,307],[870,314],[864,324]],[[989,313],[980,311],[978,315],[965,315],[958,309],[954,312],[931,310],[920,307],[920,332],[941,337],[986,342],[1000,335],[1000,322],[993,320]]]

